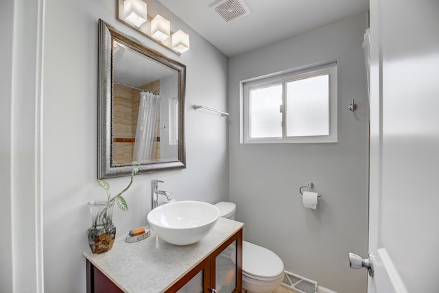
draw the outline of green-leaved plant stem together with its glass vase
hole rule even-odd
[[[116,202],[119,209],[128,211],[128,204],[122,194],[131,187],[134,174],[139,171],[135,165],[137,163],[133,162],[130,183],[116,196],[111,196],[110,185],[105,180],[97,179],[97,184],[105,190],[107,199],[88,202],[92,215],[92,226],[87,231],[88,245],[90,245],[92,253],[104,253],[110,250],[115,242],[116,226],[112,223],[112,210]]]

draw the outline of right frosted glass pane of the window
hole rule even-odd
[[[287,137],[329,135],[329,75],[286,85]]]

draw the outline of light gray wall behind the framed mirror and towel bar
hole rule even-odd
[[[228,200],[227,120],[193,104],[227,106],[228,58],[177,19],[158,1],[149,14],[171,21],[190,35],[191,50],[181,56],[167,51],[116,20],[116,2],[47,0],[45,3],[43,209],[45,292],[85,292],[86,237],[91,225],[86,202],[104,198],[97,177],[97,20],[103,19],[187,66],[187,168],[138,175],[126,193],[128,213],[115,208],[117,233],[146,224],[150,180],[178,200]],[[209,71],[209,75],[206,72]],[[128,177],[109,179],[114,194]]]

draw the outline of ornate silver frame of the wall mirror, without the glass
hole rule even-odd
[[[115,28],[99,19],[99,68],[98,68],[98,178],[111,178],[118,176],[129,176],[131,174],[131,163],[117,163],[114,160],[113,140],[113,119],[114,119],[114,68],[113,44],[117,42],[137,53],[145,56],[148,60],[158,62],[164,67],[175,71],[178,74],[178,158],[152,161],[150,163],[140,163],[139,173],[157,172],[168,169],[182,169],[186,167],[185,157],[185,79],[186,67],[180,62],[167,58],[145,47],[138,40],[126,36]],[[133,160],[134,161],[134,160]]]

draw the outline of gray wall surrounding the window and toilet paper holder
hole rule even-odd
[[[367,15],[321,27],[230,59],[230,200],[244,239],[273,250],[285,269],[340,293],[366,292],[366,272],[348,253],[367,255],[368,93],[361,43]],[[239,81],[337,60],[338,142],[239,143]],[[358,110],[347,109],[355,98]],[[298,189],[323,194],[305,209]]]

